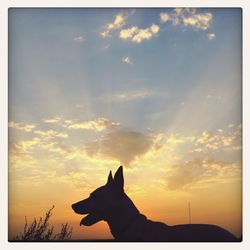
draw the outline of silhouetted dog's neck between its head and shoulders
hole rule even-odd
[[[124,209],[125,208],[125,209]],[[117,239],[128,227],[142,216],[131,199],[124,193],[117,208],[110,213],[107,223],[112,235]]]

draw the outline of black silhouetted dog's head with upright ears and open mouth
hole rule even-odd
[[[123,186],[123,169],[120,166],[114,178],[112,172],[109,172],[106,185],[97,188],[87,199],[74,203],[72,209],[76,213],[88,214],[81,220],[80,225],[91,226],[98,221],[107,220],[124,194]]]

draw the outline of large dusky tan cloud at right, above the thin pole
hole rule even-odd
[[[167,187],[170,190],[188,190],[240,177],[240,162],[196,158],[183,164],[172,166],[167,175]]]

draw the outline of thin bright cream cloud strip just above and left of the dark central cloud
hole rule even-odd
[[[67,127],[68,129],[86,129],[95,131],[103,131],[106,129],[113,129],[120,126],[120,123],[109,121],[104,117],[99,117],[95,120],[87,122],[76,122],[72,120],[66,120],[65,123],[65,127]]]

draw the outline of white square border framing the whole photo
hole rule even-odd
[[[242,47],[242,102],[243,102],[243,231],[242,231],[242,242],[237,243],[79,243],[79,242],[65,242],[65,243],[11,243],[8,242],[8,8],[10,7],[117,7],[117,8],[143,8],[143,7],[237,7],[242,8],[242,20],[243,20],[243,47]],[[2,249],[166,249],[168,247],[171,250],[175,249],[211,249],[220,248],[221,250],[226,249],[250,249],[250,201],[249,201],[249,149],[250,149],[250,101],[249,101],[249,65],[250,65],[250,5],[249,1],[244,0],[175,0],[175,1],[164,1],[164,0],[2,0],[0,3],[0,31],[1,31],[1,63],[0,63],[0,157],[1,157],[1,174],[0,174],[0,245]]]

